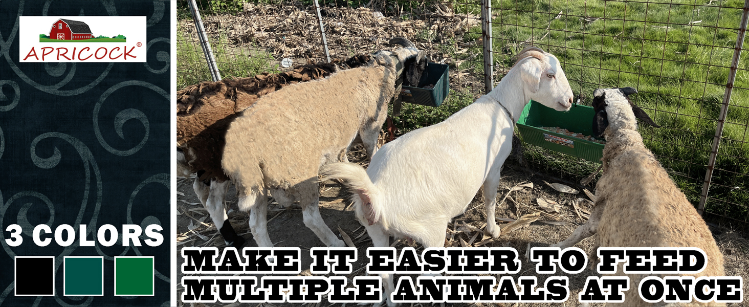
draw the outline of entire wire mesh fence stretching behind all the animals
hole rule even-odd
[[[491,9],[486,44],[482,2]],[[320,22],[330,58],[375,52],[399,36],[427,52],[429,61],[449,64],[446,102],[439,108],[404,104],[394,118],[401,133],[472,103],[485,94],[488,73],[496,85],[518,51],[540,46],[560,59],[574,93],[587,94],[580,97],[583,105],[590,105],[595,88],[637,88],[634,103],[661,125],[640,127],[646,145],[706,219],[742,228],[749,225],[749,53],[738,63],[734,54],[745,6],[737,0],[198,1],[224,78],[327,61]],[[179,7],[183,88],[210,80],[210,73],[187,2]],[[493,59],[488,68],[485,46]],[[598,167],[526,148],[532,168],[565,180],[577,182]]]

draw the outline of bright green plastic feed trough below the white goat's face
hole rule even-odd
[[[589,106],[577,105],[572,106],[568,112],[559,112],[531,100],[520,115],[518,130],[523,136],[523,141],[527,143],[600,163],[604,145],[540,128],[560,127],[574,133],[582,133],[584,136],[592,136],[593,115],[595,112]]]

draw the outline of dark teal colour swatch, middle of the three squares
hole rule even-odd
[[[65,257],[64,260],[65,296],[103,295],[103,258]]]

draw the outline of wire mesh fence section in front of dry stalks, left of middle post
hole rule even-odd
[[[318,2],[332,58],[375,52],[387,46],[392,37],[407,37],[427,52],[429,61],[452,66],[451,91],[445,103],[439,109],[405,104],[401,116],[395,118],[401,132],[435,124],[484,94],[482,49],[474,41],[481,34],[477,28],[478,15],[455,13],[453,4],[448,6],[439,1],[375,2],[368,6],[352,1]],[[441,10],[435,10],[440,4]],[[213,2],[198,2],[216,61],[226,76],[252,76],[307,61],[327,61],[313,1],[303,4],[273,0],[236,5],[234,13],[216,13],[226,10],[217,8]],[[478,7],[478,2],[457,4],[457,11],[461,5]],[[199,54],[195,25],[189,13],[181,17],[178,49],[189,53],[189,59],[180,64],[185,71],[202,73],[198,73],[200,78],[178,80],[178,88],[210,80],[204,58]],[[470,36],[474,38],[464,40]]]

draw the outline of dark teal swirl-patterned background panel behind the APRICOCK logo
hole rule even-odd
[[[0,307],[169,306],[169,1],[0,1]],[[146,63],[19,63],[19,16],[146,16]],[[122,25],[127,26],[127,25]],[[95,32],[95,30],[94,30]],[[130,42],[128,42],[130,43]],[[23,243],[8,246],[8,225]],[[34,226],[161,225],[151,247],[36,246]],[[51,237],[51,236],[49,236]],[[13,257],[55,256],[55,297],[14,297]],[[64,297],[64,256],[103,256],[104,296]],[[154,297],[114,296],[115,256],[154,256]]]

